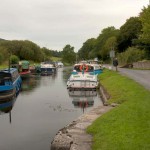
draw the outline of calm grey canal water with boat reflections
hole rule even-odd
[[[68,72],[23,80],[18,97],[0,103],[0,150],[50,150],[59,129],[103,105],[96,91],[69,92]]]

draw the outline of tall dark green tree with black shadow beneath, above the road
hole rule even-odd
[[[126,23],[120,27],[120,33],[117,38],[118,52],[125,51],[131,47],[132,41],[138,39],[141,34],[142,23],[138,17],[131,17],[126,20]]]

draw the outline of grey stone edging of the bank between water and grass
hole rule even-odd
[[[111,110],[113,106],[107,104],[108,93],[100,87],[104,106],[93,108],[77,120],[60,129],[51,143],[51,150],[91,150],[92,136],[86,132],[89,125],[98,117]]]

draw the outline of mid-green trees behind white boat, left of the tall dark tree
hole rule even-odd
[[[83,43],[83,46],[78,52],[80,59],[93,59],[99,58],[102,60],[108,59],[109,51],[113,48],[116,49],[116,38],[119,30],[115,27],[104,28],[95,38],[88,39]]]

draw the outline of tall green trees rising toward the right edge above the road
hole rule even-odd
[[[138,17],[130,17],[120,29],[104,28],[97,38],[90,38],[78,51],[80,59],[108,60],[114,50],[126,63],[150,59],[150,6],[144,7]],[[129,57],[129,58],[127,58]],[[123,61],[123,60],[122,60]]]

